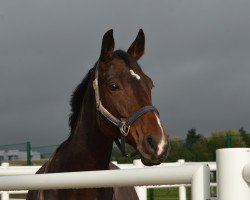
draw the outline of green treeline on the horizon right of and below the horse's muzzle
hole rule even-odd
[[[171,136],[171,150],[166,162],[176,162],[178,159],[186,161],[215,161],[216,149],[231,147],[250,147],[250,133],[244,128],[239,130],[214,131],[208,137],[197,133],[195,128],[190,129],[186,138]],[[133,148],[127,146],[127,151],[132,153]],[[120,163],[131,163],[135,157],[121,156],[119,149],[114,147],[112,160]]]

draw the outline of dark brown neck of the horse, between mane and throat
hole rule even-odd
[[[109,167],[113,140],[100,130],[94,92],[90,88],[88,91],[83,100],[75,131],[58,151],[58,155],[64,157],[64,161],[59,164],[63,166],[61,171],[105,170]]]

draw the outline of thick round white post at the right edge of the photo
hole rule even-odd
[[[219,149],[216,151],[216,161],[218,199],[249,200],[250,184],[243,178],[243,168],[250,163],[250,149]]]

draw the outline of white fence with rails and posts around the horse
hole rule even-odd
[[[250,149],[217,150],[217,187],[219,200],[250,199]],[[123,170],[71,172],[55,174],[33,173],[34,167],[0,167],[0,190],[37,190],[66,188],[97,188],[112,186],[179,184],[179,199],[185,199],[184,184],[191,184],[192,200],[209,200],[210,170],[215,163],[168,163],[159,167]],[[18,176],[16,176],[19,174]],[[20,175],[22,174],[22,175]],[[4,175],[4,176],[3,176]],[[140,200],[146,199],[146,187],[136,187]],[[184,194],[184,195],[183,195]],[[2,192],[2,199],[8,199]]]

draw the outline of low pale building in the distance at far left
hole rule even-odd
[[[41,154],[36,151],[31,151],[32,160],[40,160]],[[0,150],[0,161],[3,160],[27,160],[27,152],[20,150]]]

